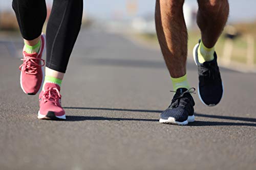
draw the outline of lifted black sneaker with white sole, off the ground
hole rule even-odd
[[[216,106],[223,97],[223,83],[217,63],[217,54],[214,53],[214,60],[199,63],[198,47],[199,43],[194,47],[194,61],[198,66],[199,84],[198,95],[200,100],[206,106]]]

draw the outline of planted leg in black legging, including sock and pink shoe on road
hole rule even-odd
[[[82,0],[54,0],[47,26],[46,77],[39,95],[39,119],[66,119],[60,86],[81,27]],[[49,95],[51,94],[51,95]]]

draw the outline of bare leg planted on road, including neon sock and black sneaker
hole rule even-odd
[[[155,13],[159,44],[176,92],[159,121],[175,125],[187,125],[195,120],[195,102],[190,94],[193,91],[186,77],[187,29],[183,4],[184,0],[157,0]]]

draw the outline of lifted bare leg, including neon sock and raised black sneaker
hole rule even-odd
[[[198,66],[198,94],[203,104],[216,106],[223,97],[223,83],[217,62],[215,44],[228,19],[227,0],[198,0],[197,23],[201,41],[193,51]]]

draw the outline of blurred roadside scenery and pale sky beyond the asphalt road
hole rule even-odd
[[[13,54],[15,46],[10,40],[15,41],[20,38],[20,34],[11,2],[11,0],[0,0],[0,50],[8,48],[10,55],[15,55]],[[46,2],[49,18],[52,0]],[[255,71],[256,1],[248,0],[246,3],[241,3],[238,0],[230,0],[229,3],[228,25],[217,44],[220,63],[226,67],[236,65],[242,71]],[[101,0],[84,1],[82,29],[93,28],[123,34],[144,45],[158,47],[154,10],[155,1],[148,0],[113,0],[111,4],[109,1]],[[200,37],[196,25],[196,12],[197,2],[186,0],[184,15],[189,32],[189,52]]]

